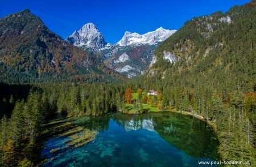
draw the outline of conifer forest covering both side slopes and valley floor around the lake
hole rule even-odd
[[[255,166],[255,4],[188,20],[159,44],[155,63],[135,79],[68,44],[27,10],[18,13],[26,24],[1,19],[0,166],[42,165],[52,120],[129,114],[129,107],[137,114],[154,108],[199,115],[217,135],[220,160]],[[26,32],[31,27],[34,32]],[[158,95],[147,95],[150,90]]]

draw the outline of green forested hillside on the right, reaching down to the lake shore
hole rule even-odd
[[[164,110],[185,110],[216,122],[223,160],[253,162],[255,43],[255,1],[193,18],[160,44],[156,63],[136,85],[161,90]]]

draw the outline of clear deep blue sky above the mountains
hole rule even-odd
[[[0,18],[28,8],[63,38],[92,22],[105,40],[113,44],[125,31],[146,33],[159,27],[179,29],[193,17],[226,12],[234,5],[247,2],[250,0],[3,0]]]

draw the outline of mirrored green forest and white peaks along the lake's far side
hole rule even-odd
[[[139,115],[116,113],[102,117],[74,118],[72,122],[100,132],[108,131],[110,119],[126,131],[156,131],[168,143],[195,158],[218,159],[218,140],[213,129],[206,122],[187,115],[170,112]]]

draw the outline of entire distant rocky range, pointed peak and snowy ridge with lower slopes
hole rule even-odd
[[[143,35],[126,31],[121,40],[112,45],[105,42],[96,25],[87,23],[66,40],[72,45],[93,51],[100,55],[106,66],[128,78],[134,78],[146,72],[156,46],[175,32],[162,27]]]

